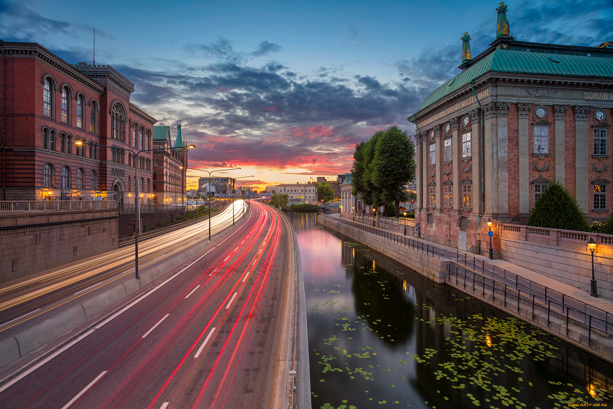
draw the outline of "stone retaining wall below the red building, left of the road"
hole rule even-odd
[[[118,248],[119,211],[0,215],[0,284]]]

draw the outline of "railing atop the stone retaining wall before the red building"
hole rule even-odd
[[[117,208],[116,201],[0,201],[0,213],[76,212]]]

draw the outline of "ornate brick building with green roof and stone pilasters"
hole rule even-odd
[[[495,238],[498,223],[524,224],[554,180],[589,220],[611,215],[613,44],[522,42],[498,24],[496,40],[471,58],[470,36],[462,40],[462,72],[409,118],[419,129],[422,237],[485,253],[487,220]]]

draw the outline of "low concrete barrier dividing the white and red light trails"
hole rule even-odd
[[[211,245],[223,239],[227,233],[234,231],[240,227],[248,218],[242,218],[235,223],[235,226],[229,226],[220,232],[211,236],[211,241],[202,247],[201,243],[194,243],[184,251],[175,255],[172,259],[163,262],[162,264],[150,267],[148,270],[140,274],[140,280],[136,278],[128,278],[123,283],[119,283],[114,288],[97,294],[96,296],[75,304],[64,312],[50,316],[42,323],[38,323],[28,329],[25,329],[18,334],[12,335],[0,341],[0,368],[10,362],[15,361],[26,353],[38,348],[45,342],[52,340],[58,335],[77,326],[86,319],[89,319],[97,313],[112,307],[116,303],[130,296],[139,289],[147,286],[154,280],[162,277],[166,273],[176,269],[189,259],[194,258],[202,251],[211,247]]]

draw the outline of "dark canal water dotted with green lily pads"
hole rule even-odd
[[[313,408],[613,404],[612,365],[316,226],[314,213],[288,215],[305,280]]]

